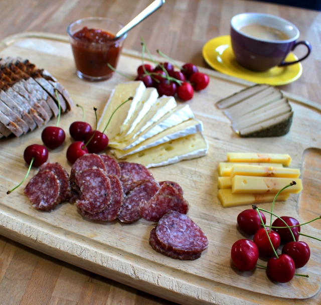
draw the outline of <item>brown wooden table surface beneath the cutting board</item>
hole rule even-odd
[[[107,17],[126,24],[151,2],[0,0],[0,39],[23,31],[66,34],[71,22],[91,16]],[[159,48],[174,59],[208,67],[202,57],[203,45],[211,38],[229,34],[231,18],[244,12],[280,16],[298,27],[300,39],[311,43],[312,53],[302,62],[302,76],[281,88],[321,104],[320,12],[244,0],[166,0],[163,8],[129,33],[125,48],[140,51],[142,36],[152,54]],[[300,56],[304,52],[302,47],[295,54]],[[315,166],[320,167],[320,164]],[[319,292],[315,301],[320,299]],[[175,304],[74,267],[2,236],[0,300],[3,305]]]

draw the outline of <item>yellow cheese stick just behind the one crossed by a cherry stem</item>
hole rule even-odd
[[[231,178],[234,176],[299,178],[300,170],[288,168],[274,168],[272,166],[235,164],[231,170]]]

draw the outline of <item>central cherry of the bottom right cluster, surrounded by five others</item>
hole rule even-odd
[[[266,228],[266,230],[267,230],[269,237],[271,239],[273,248],[276,250],[280,245],[280,236],[276,232],[274,232],[273,230],[271,230],[271,232],[269,232],[269,228]],[[261,228],[256,231],[256,233],[253,237],[253,241],[257,245],[257,248],[259,249],[260,256],[269,257],[274,254],[274,251],[271,247],[271,244],[269,242],[269,239],[266,235],[264,228]]]

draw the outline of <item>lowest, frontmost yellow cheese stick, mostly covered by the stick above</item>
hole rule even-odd
[[[276,201],[285,201],[290,194],[280,193]],[[220,200],[224,208],[236,207],[245,204],[259,204],[265,202],[273,202],[275,194],[232,194],[231,189],[219,190],[217,198]]]

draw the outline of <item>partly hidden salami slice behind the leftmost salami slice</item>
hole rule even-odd
[[[58,163],[44,163],[39,171],[52,171],[60,182],[61,202],[66,202],[71,197],[71,188],[69,183],[69,175],[66,170]]]

